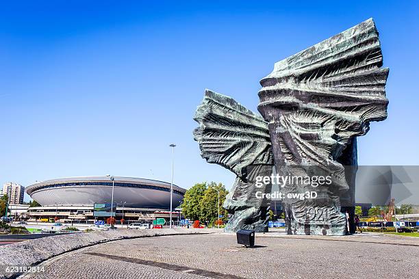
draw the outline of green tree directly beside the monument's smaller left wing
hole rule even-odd
[[[219,204],[217,190],[220,192]],[[214,224],[218,220],[218,206],[220,208],[220,215],[223,215],[221,219],[226,220],[227,211],[223,208],[223,203],[227,194],[228,191],[222,183],[218,183],[218,185],[215,182],[210,183],[207,189],[205,189],[202,199],[199,201],[199,208],[201,209],[199,220]]]

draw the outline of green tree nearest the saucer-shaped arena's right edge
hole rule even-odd
[[[199,202],[204,196],[204,192],[207,189],[207,183],[196,183],[190,189],[186,190],[185,196],[183,196],[183,202],[181,209],[183,215],[190,220],[199,220],[201,216],[201,208]]]

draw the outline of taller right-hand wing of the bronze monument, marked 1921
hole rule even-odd
[[[289,234],[353,232],[346,214],[353,222],[356,168],[344,165],[357,165],[356,137],[387,117],[388,68],[382,65],[378,31],[368,19],[277,62],[260,82],[258,110],[269,123],[277,173],[331,178],[316,187],[316,199],[283,200]],[[312,189],[297,182],[283,191]]]

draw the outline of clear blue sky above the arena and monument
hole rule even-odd
[[[205,88],[256,111],[275,62],[374,18],[390,67],[388,120],[359,163],[419,165],[415,1],[6,1],[0,9],[0,183],[114,174],[231,187],[201,159]]]

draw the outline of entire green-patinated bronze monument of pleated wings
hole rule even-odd
[[[267,230],[268,201],[255,198],[257,176],[332,174],[315,200],[282,200],[290,234],[343,235],[353,219],[356,137],[387,117],[388,68],[372,19],[275,64],[260,82],[257,116],[207,90],[194,119],[202,157],[237,175],[225,208],[227,231]],[[273,168],[272,168],[273,167]],[[271,185],[257,188],[269,193]],[[285,193],[307,185],[290,183]]]

